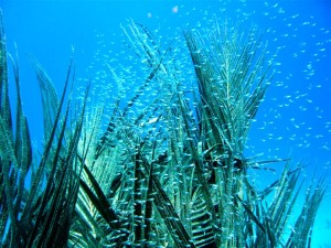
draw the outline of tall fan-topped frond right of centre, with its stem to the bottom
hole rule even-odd
[[[214,22],[203,34],[185,31],[199,84],[200,145],[204,165],[211,164],[217,185],[216,202],[224,247],[243,247],[245,207],[250,186],[245,180],[244,145],[250,122],[270,79],[265,48],[250,31],[229,30]],[[222,185],[222,186],[221,186]],[[238,197],[238,198],[236,198]]]

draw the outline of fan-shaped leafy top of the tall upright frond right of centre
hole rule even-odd
[[[184,35],[199,79],[200,115],[206,126],[201,128],[211,129],[215,140],[209,147],[220,144],[225,153],[239,154],[271,76],[260,35],[252,30],[245,36],[216,21],[210,32]]]

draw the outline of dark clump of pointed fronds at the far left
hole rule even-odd
[[[8,96],[7,51],[1,15],[1,237],[6,247],[63,247],[67,244],[71,216],[73,214],[79,182],[79,161],[76,147],[79,138],[85,104],[78,116],[73,132],[67,132],[68,107],[61,115],[64,105],[64,90],[58,106],[45,106],[47,136],[41,162],[32,164],[32,147],[26,119],[22,110],[18,60],[12,58],[17,86],[17,117],[12,117]],[[10,56],[11,57],[11,56]],[[36,62],[35,62],[36,63]],[[44,69],[39,65],[40,83],[45,83]],[[70,73],[66,85],[70,83]],[[49,82],[46,82],[49,84]],[[50,85],[50,87],[53,87]],[[43,99],[53,100],[53,95],[43,91]],[[52,96],[51,96],[52,95]],[[86,98],[85,98],[86,99]],[[55,139],[55,132],[58,137]],[[13,137],[14,133],[14,137]],[[64,145],[64,140],[66,144]],[[52,155],[51,155],[52,154]],[[29,179],[31,166],[36,166],[34,177]],[[25,188],[25,182],[31,187]]]

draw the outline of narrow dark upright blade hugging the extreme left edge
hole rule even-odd
[[[12,244],[18,244],[18,212],[15,212],[15,181],[19,165],[15,160],[13,126],[11,107],[9,100],[9,82],[8,82],[8,64],[7,64],[7,44],[4,35],[4,25],[2,20],[2,10],[0,10],[0,175],[1,175],[1,195],[0,207],[1,229],[0,234],[4,236],[6,225],[11,219],[10,234],[7,235]]]

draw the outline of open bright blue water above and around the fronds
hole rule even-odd
[[[42,139],[42,110],[26,54],[41,62],[61,90],[72,56],[82,78],[95,76],[98,56],[114,55],[124,64],[129,62],[129,52],[121,52],[120,29],[129,19],[157,30],[156,36],[162,36],[164,43],[181,35],[180,29],[199,29],[214,17],[242,22],[247,29],[256,25],[265,32],[270,54],[277,51],[277,58],[275,78],[253,125],[247,157],[302,160],[309,182],[314,171],[323,174],[331,168],[329,2],[1,0],[0,4],[8,50],[14,53],[14,44],[18,47],[23,105],[35,142]],[[256,174],[256,180],[263,183],[267,179]],[[319,212],[312,247],[330,247],[330,197],[327,193]]]

